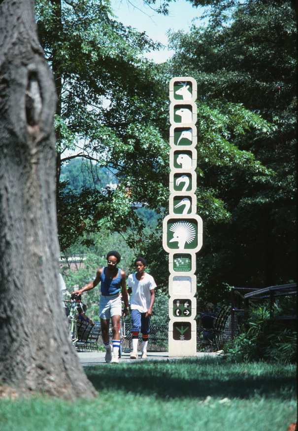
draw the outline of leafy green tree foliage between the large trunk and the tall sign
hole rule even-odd
[[[144,225],[132,204],[160,211],[166,197],[166,181],[161,181],[167,173],[166,108],[160,103],[165,90],[157,66],[143,57],[159,45],[116,21],[108,0],[38,0],[36,15],[58,95],[58,181],[63,165],[74,157],[70,149],[76,147],[76,157],[93,161],[83,184],[60,184],[61,249],[102,226],[121,233],[131,228],[127,238],[135,245],[142,240]],[[119,184],[113,195],[98,193],[102,168]]]

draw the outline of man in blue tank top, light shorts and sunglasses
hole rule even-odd
[[[124,316],[129,313],[129,300],[126,289],[126,275],[122,269],[117,268],[121,256],[118,251],[109,251],[106,255],[107,265],[99,268],[96,278],[93,282],[88,283],[80,290],[72,293],[78,295],[91,290],[100,282],[100,299],[99,299],[99,318],[101,326],[102,341],[106,350],[105,361],[118,363],[118,354],[120,348],[120,317],[122,314],[122,300],[124,301]],[[121,291],[121,292],[120,292]],[[110,345],[109,326],[112,321],[112,347]]]

